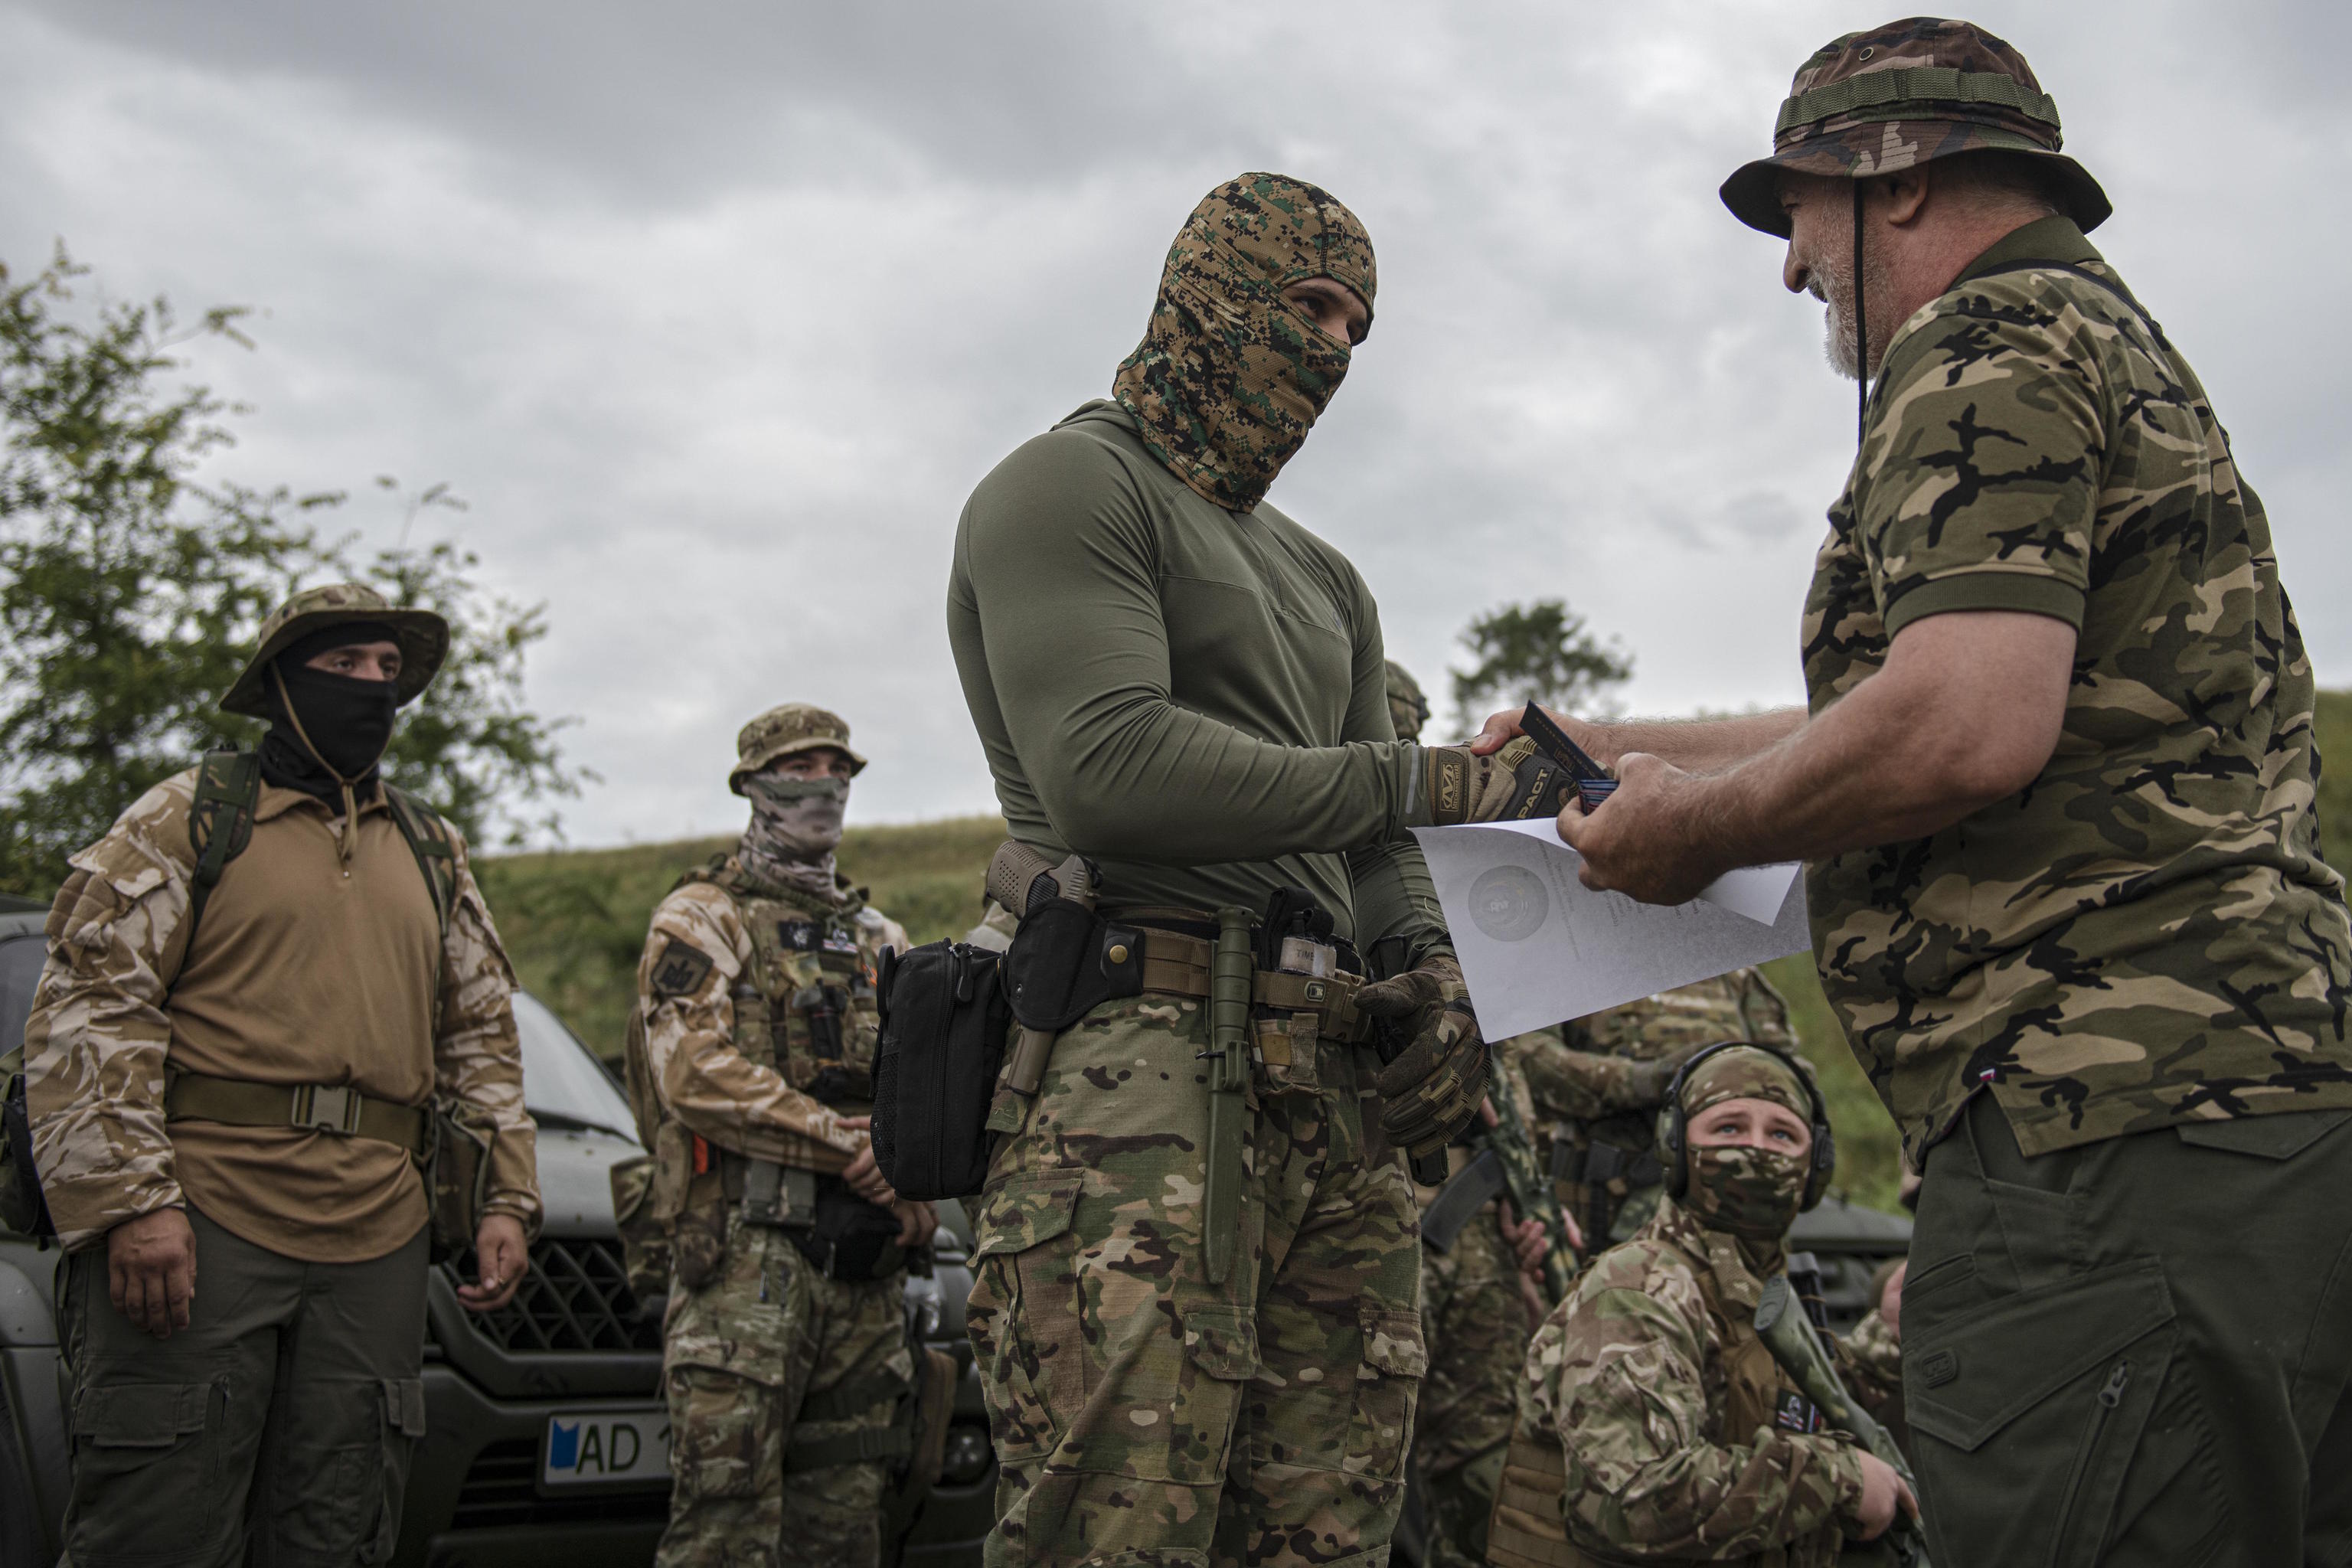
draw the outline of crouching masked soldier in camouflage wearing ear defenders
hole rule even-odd
[[[1893,1469],[1820,1429],[1755,1333],[1788,1227],[1818,1194],[1818,1100],[1755,1046],[1696,1060],[1679,1098],[1679,1192],[1592,1262],[1526,1352],[1489,1542],[1501,1568],[1830,1568],[1907,1502]],[[1835,1354],[1865,1406],[1896,1399],[1882,1319]]]

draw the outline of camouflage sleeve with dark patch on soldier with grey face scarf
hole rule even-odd
[[[748,952],[743,919],[720,889],[684,886],[654,910],[637,964],[637,1006],[661,1103],[722,1150],[837,1173],[866,1147],[866,1133],[734,1048],[727,987]]]

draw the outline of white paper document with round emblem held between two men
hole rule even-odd
[[[1755,865],[1691,903],[1595,893],[1550,818],[1416,827],[1479,1032],[1508,1039],[1811,945],[1797,865]]]

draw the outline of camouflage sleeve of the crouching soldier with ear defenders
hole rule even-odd
[[[1616,1552],[1729,1559],[1851,1519],[1853,1448],[1825,1434],[1715,1434],[1696,1284],[1576,1295],[1562,1321],[1555,1420],[1564,1509]]]

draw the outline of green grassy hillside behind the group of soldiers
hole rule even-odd
[[[2333,759],[2319,792],[2328,863],[2352,867],[2352,691],[2319,696],[2319,752]],[[927,943],[978,917],[981,877],[1002,837],[1004,823],[990,816],[851,827],[840,863],[873,891],[880,910]],[[480,875],[522,983],[597,1051],[619,1053],[654,903],[682,870],[724,846],[727,839],[691,839],[503,856],[482,860]],[[1788,997],[1804,1053],[1820,1070],[1837,1124],[1839,1185],[1867,1204],[1891,1206],[1896,1128],[1846,1051],[1811,959],[1780,959],[1766,973]]]

